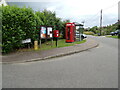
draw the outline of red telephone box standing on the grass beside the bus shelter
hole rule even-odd
[[[66,42],[71,43],[75,41],[75,24],[66,23]]]

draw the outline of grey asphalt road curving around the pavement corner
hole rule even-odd
[[[118,88],[118,40],[89,38],[100,45],[45,61],[4,64],[3,88]]]

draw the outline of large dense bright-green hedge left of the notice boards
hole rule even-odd
[[[9,53],[24,45],[22,40],[38,38],[33,26],[42,23],[31,8],[2,7],[2,52]]]

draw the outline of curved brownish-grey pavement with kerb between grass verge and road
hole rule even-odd
[[[2,63],[25,63],[46,60],[86,51],[88,49],[97,47],[98,45],[99,43],[97,41],[88,38],[85,43],[77,44],[74,46],[54,48],[44,51],[17,52],[9,55],[4,55],[2,56]]]

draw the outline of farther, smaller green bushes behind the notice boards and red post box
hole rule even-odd
[[[37,11],[35,14],[43,22],[45,26],[53,26],[54,30],[59,30],[61,33],[61,38],[65,38],[65,24],[70,22],[70,20],[62,21],[61,18],[56,17],[55,12],[44,10],[42,12]]]

